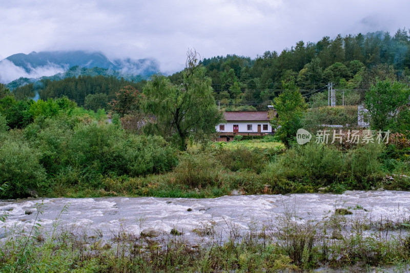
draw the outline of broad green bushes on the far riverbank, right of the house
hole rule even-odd
[[[364,182],[382,179],[382,152],[383,145],[372,143],[347,152],[324,144],[298,145],[277,156],[262,176],[273,182],[288,180],[317,186],[350,181],[358,188],[368,188]]]

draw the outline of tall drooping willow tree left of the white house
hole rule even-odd
[[[222,117],[212,95],[211,78],[198,64],[198,54],[189,50],[187,56],[182,82],[175,85],[165,76],[154,75],[143,90],[144,112],[153,120],[147,130],[176,139],[181,150],[187,149],[190,136],[203,139],[215,132]]]

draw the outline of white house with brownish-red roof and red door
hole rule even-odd
[[[228,111],[223,116],[226,122],[215,125],[221,136],[274,133],[268,111]]]

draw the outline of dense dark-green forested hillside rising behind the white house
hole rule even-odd
[[[328,82],[335,83],[334,88],[361,91],[376,78],[408,81],[409,46],[408,31],[399,29],[393,36],[388,32],[325,36],[316,43],[298,41],[280,53],[266,51],[256,59],[227,55],[204,58],[202,64],[212,78],[216,100],[230,107],[247,104],[266,109],[283,80],[294,79],[308,97]],[[171,78],[177,80],[178,73]]]

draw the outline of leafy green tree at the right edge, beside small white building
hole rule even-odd
[[[403,83],[390,80],[378,81],[366,93],[365,104],[370,114],[370,126],[374,130],[394,130],[397,117],[409,102],[410,89]]]

